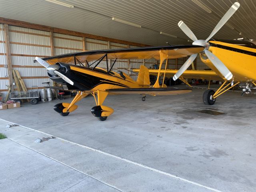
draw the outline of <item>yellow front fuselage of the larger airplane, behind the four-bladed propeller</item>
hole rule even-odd
[[[210,41],[210,43],[228,46],[230,48],[242,49],[256,53],[256,49],[248,48],[240,45],[229,44],[220,41]],[[256,80],[256,56],[234,52],[210,46],[209,50],[216,55],[233,74],[234,81],[253,82]],[[207,66],[214,70],[218,75],[222,76],[220,72],[213,66],[209,60],[202,60]]]

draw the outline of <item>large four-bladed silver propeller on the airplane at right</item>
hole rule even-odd
[[[218,71],[227,79],[230,80],[233,75],[228,70],[228,68],[224,65],[224,63],[221,62],[221,60],[214,55],[212,52],[210,52],[208,49],[210,47],[210,44],[208,41],[222,28],[222,26],[229,20],[229,18],[236,12],[236,10],[239,8],[240,4],[238,2],[235,2],[229,10],[226,12],[226,14],[222,17],[222,19],[218,22],[210,36],[206,40],[198,40],[194,33],[186,26],[186,24],[183,21],[180,21],[178,23],[178,26],[180,29],[192,40],[194,41],[192,44],[193,45],[200,45],[204,46],[204,53],[206,56],[210,59],[212,64],[218,69]],[[183,73],[184,71],[190,66],[190,64],[195,60],[196,56],[198,54],[193,54],[188,58],[188,60],[182,65],[182,67],[178,70],[178,72],[173,76],[173,80],[177,80]]]

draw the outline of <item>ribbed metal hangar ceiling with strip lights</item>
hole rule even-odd
[[[64,28],[152,46],[191,44],[178,27],[183,20],[198,39],[206,39],[232,0],[61,0],[68,8],[45,0],[0,0],[0,17]],[[256,39],[256,1],[240,0],[240,8],[214,38]],[[130,26],[112,17],[142,26]],[[234,28],[234,29],[231,29]],[[175,37],[160,34],[170,34]],[[242,33],[240,35],[239,33]]]

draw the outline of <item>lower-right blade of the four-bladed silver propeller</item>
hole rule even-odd
[[[230,80],[233,75],[230,72],[230,70],[228,70],[228,68],[224,65],[224,63],[221,62],[221,60],[219,60],[218,57],[216,57],[212,52],[208,51],[208,50],[204,50],[204,53],[206,54],[206,56],[210,59],[210,61],[212,62],[212,64],[218,69],[218,71],[227,79]]]

